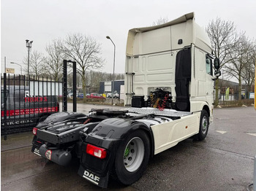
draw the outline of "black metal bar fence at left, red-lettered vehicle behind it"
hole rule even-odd
[[[62,79],[1,74],[1,136],[32,130],[59,112]]]

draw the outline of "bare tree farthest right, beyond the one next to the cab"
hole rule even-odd
[[[241,85],[243,81],[243,75],[244,73],[248,75],[246,66],[249,66],[251,63],[251,56],[252,43],[249,41],[248,37],[246,37],[244,34],[241,34],[241,38],[239,39],[239,42],[236,43],[236,47],[228,51],[227,57],[229,58],[230,63],[227,63],[224,68],[228,75],[238,79],[239,101],[241,101]]]

